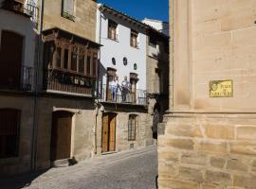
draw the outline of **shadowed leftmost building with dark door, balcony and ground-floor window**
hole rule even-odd
[[[34,14],[37,9],[31,1],[0,0],[0,176],[31,167]]]

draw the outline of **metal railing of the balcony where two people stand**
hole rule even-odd
[[[113,102],[120,104],[135,104],[135,105],[147,105],[147,92],[145,90],[137,89],[136,92],[129,90],[128,92],[122,92],[118,89],[117,93],[113,93],[113,87],[107,85],[99,86],[99,99],[103,102]]]

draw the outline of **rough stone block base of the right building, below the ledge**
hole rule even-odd
[[[255,189],[256,116],[175,115],[158,163],[160,189]]]

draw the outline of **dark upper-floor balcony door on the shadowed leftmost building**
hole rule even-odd
[[[0,52],[0,87],[20,88],[23,37],[19,34],[2,31]]]

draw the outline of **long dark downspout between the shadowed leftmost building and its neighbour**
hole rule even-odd
[[[36,170],[37,163],[37,142],[38,142],[38,84],[39,83],[39,73],[40,73],[40,60],[41,60],[41,39],[43,30],[43,16],[44,16],[44,0],[40,1],[40,24],[39,33],[37,35],[37,60],[35,62],[35,85],[34,85],[34,107],[33,107],[33,129],[32,129],[32,139],[31,139],[31,170]]]

